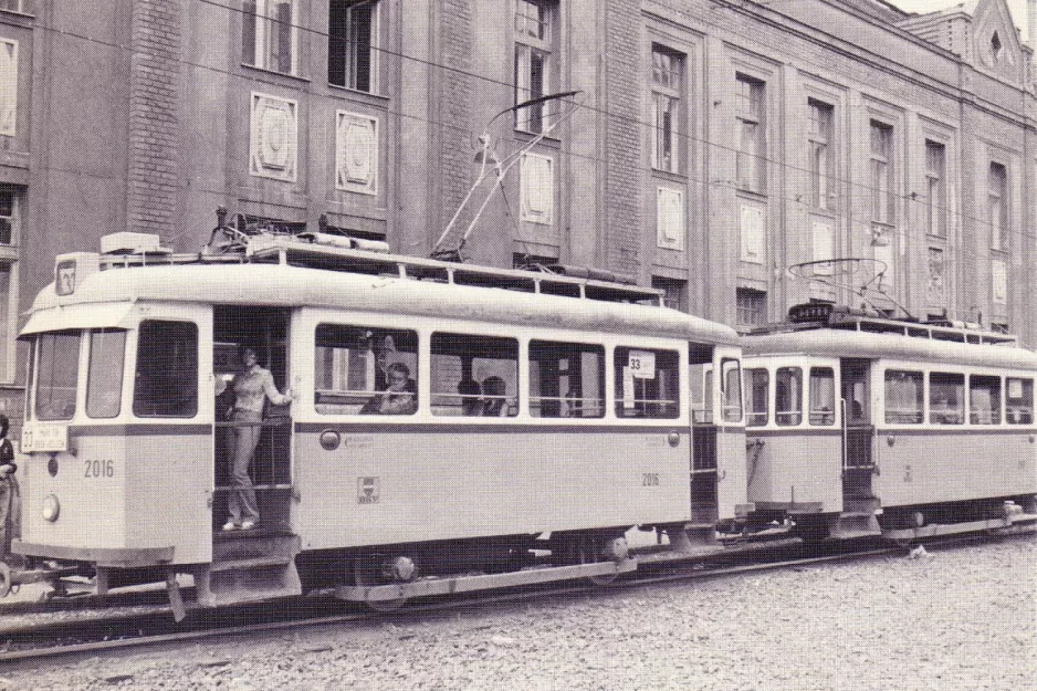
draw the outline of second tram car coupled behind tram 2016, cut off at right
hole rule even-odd
[[[743,339],[754,524],[909,543],[1037,522],[1037,355],[1014,336],[794,307]]]

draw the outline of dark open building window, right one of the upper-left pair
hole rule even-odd
[[[377,66],[378,3],[332,0],[327,29],[327,81],[374,92]]]

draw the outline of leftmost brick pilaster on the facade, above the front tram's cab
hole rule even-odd
[[[127,228],[176,228],[180,2],[134,0],[130,22]]]

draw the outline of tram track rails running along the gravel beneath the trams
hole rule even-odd
[[[1026,538],[1019,536],[968,535],[926,542],[931,549],[967,546],[997,540]],[[691,583],[706,578],[721,578],[747,573],[806,567],[826,563],[852,562],[904,555],[902,546],[866,543],[847,548],[844,543],[818,545],[783,544],[774,549],[724,551],[704,557],[670,557],[648,561],[635,574],[617,579],[609,586],[585,582],[567,582],[553,586],[512,588],[473,594],[464,598],[437,598],[391,613],[357,610],[357,605],[333,597],[307,596],[290,600],[271,600],[216,609],[192,608],[186,622],[177,625],[168,610],[148,611],[108,619],[48,622],[23,626],[0,632],[0,664],[31,663],[64,660],[98,655],[119,655],[136,649],[176,647],[208,639],[244,637],[298,631],[308,628],[342,625],[369,625],[391,621],[400,624],[409,618],[449,614],[463,608],[493,605],[514,605],[549,598],[566,598],[636,589],[646,586]],[[748,558],[752,561],[748,561]],[[755,557],[755,558],[753,558]],[[291,603],[291,606],[285,606]],[[338,608],[335,614],[328,610]]]

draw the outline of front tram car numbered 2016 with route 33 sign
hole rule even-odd
[[[632,526],[684,545],[744,517],[729,327],[632,284],[326,240],[175,255],[116,233],[57,258],[21,333],[28,573],[165,580],[178,617],[188,574],[206,605],[324,588],[394,606],[608,580],[636,568]],[[242,343],[294,400],[261,423],[259,526],[222,532],[240,422],[218,391]],[[417,406],[373,415],[394,363]]]

